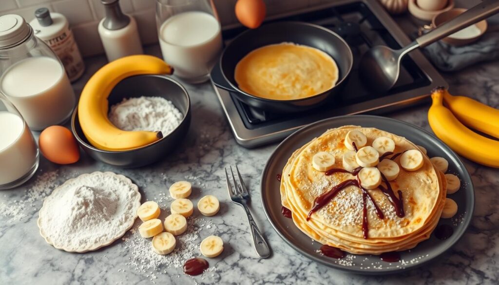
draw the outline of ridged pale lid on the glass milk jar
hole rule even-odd
[[[0,48],[21,42],[30,31],[31,28],[23,17],[15,14],[0,16]]]

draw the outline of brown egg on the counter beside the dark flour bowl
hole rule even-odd
[[[44,129],[38,145],[43,156],[53,163],[70,164],[80,159],[80,149],[70,130],[62,126]]]

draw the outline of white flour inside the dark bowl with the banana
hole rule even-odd
[[[163,97],[123,99],[111,106],[109,120],[124,131],[161,131],[171,133],[182,122],[182,113]]]

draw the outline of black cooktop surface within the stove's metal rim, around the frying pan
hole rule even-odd
[[[354,103],[371,100],[383,96],[389,96],[404,90],[411,90],[430,85],[431,81],[419,66],[410,58],[402,60],[402,68],[399,80],[394,88],[386,93],[372,93],[360,82],[358,75],[358,61],[360,56],[374,45],[384,44],[397,49],[401,46],[378,20],[376,15],[363,2],[355,2],[337,7],[329,7],[318,11],[294,15],[282,20],[304,21],[319,24],[329,28],[345,39],[353,53],[353,68],[341,96],[336,97],[329,103],[298,114],[274,114],[268,111],[255,109],[238,100],[231,94],[245,126],[249,129],[258,128],[268,124],[287,121],[290,118],[307,116],[317,112],[327,112],[331,108],[348,106]],[[241,29],[243,31],[244,29]],[[241,31],[230,30],[223,33],[224,39],[232,38]]]

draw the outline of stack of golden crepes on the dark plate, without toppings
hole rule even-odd
[[[316,197],[331,190],[347,179],[355,179],[350,173],[334,173],[326,176],[312,167],[312,157],[320,151],[335,156],[335,167],[342,168],[344,145],[348,131],[357,129],[367,137],[367,144],[386,136],[395,142],[394,153],[419,149],[409,140],[376,128],[344,126],[330,129],[296,150],[284,166],[280,184],[282,206],[292,212],[294,224],[313,240],[353,254],[379,255],[385,252],[414,248],[427,240],[440,219],[446,198],[446,180],[428,156],[423,154],[424,164],[417,171],[400,168],[399,176],[389,183],[395,193],[402,191],[405,216],[399,217],[389,198],[379,189],[368,190],[382,210],[380,219],[373,204],[368,200],[368,238],[362,229],[363,198],[361,189],[348,186],[340,191],[327,205],[310,216],[307,215]],[[394,159],[399,163],[399,158]],[[400,165],[400,163],[399,163]],[[382,185],[386,183],[383,182]]]

